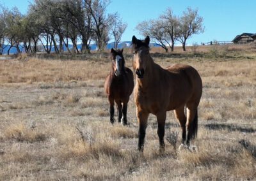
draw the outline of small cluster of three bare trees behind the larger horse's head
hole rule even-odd
[[[176,41],[182,43],[186,51],[186,41],[193,34],[204,33],[203,18],[198,15],[198,9],[186,8],[179,17],[167,8],[156,19],[140,22],[136,29],[143,36],[150,36],[150,40],[160,45],[166,52],[168,47],[173,51]]]

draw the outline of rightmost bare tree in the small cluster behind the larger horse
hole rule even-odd
[[[203,18],[198,15],[198,9],[192,10],[187,8],[183,11],[182,17],[180,17],[179,25],[179,39],[182,43],[182,48],[186,51],[186,41],[191,38],[193,34],[204,33]]]

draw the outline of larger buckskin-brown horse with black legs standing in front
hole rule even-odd
[[[133,68],[136,72],[134,101],[139,122],[138,150],[143,151],[149,113],[157,117],[160,150],[164,150],[166,112],[174,110],[182,129],[182,145],[196,137],[198,129],[197,107],[202,96],[202,80],[195,68],[175,64],[161,68],[149,54],[150,38],[132,37]],[[186,106],[186,115],[184,113]]]

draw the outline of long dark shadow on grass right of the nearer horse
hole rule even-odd
[[[241,127],[230,124],[205,124],[204,127],[211,130],[227,129],[227,131],[239,131],[243,133],[255,133],[256,131],[256,129],[253,129],[252,127]]]

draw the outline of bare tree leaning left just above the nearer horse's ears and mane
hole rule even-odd
[[[168,48],[166,47],[166,44],[169,43],[168,36],[163,28],[161,20],[143,21],[136,26],[136,29],[142,36],[149,36],[151,41],[168,52]]]

